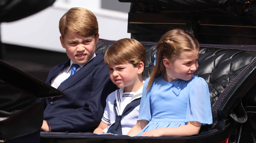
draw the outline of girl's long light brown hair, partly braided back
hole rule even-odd
[[[175,58],[180,57],[182,51],[199,50],[199,43],[189,32],[182,29],[172,29],[160,38],[156,49],[157,63],[150,74],[147,91],[150,89],[155,77],[166,74],[163,59],[166,58],[172,62]]]

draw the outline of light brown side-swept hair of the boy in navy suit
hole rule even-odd
[[[84,37],[98,34],[96,16],[86,8],[70,8],[59,21],[59,31],[64,38],[67,30]]]

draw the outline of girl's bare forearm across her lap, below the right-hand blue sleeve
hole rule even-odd
[[[189,136],[199,133],[201,123],[197,121],[188,122],[187,125],[175,128],[159,128],[142,133],[140,136]],[[130,132],[129,132],[130,133]]]

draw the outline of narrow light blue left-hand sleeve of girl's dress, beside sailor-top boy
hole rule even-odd
[[[141,100],[140,100],[140,105],[139,105],[139,117],[137,120],[148,120],[150,121],[152,118],[152,111],[151,111],[151,105],[150,105],[150,90],[149,89],[147,91],[147,85],[148,85],[148,81],[150,78],[147,78],[145,80],[144,86],[143,86],[143,90],[142,90],[142,96],[141,96]],[[152,85],[153,86],[153,85]]]

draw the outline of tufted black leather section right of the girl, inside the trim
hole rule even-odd
[[[195,75],[208,83],[211,105],[227,85],[256,58],[255,52],[233,49],[201,47],[199,53],[199,68]]]

